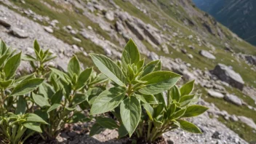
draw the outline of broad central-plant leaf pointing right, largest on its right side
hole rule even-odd
[[[173,87],[180,79],[180,75],[169,71],[155,71],[143,76],[140,80],[147,81],[145,87],[139,89],[139,92],[145,95],[156,95]]]

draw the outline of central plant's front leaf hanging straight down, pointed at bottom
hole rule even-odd
[[[120,105],[121,121],[129,133],[129,137],[135,132],[140,121],[141,107],[140,101],[136,97],[125,99]]]

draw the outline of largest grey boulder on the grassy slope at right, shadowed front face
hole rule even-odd
[[[239,73],[236,73],[226,65],[223,65],[221,63],[217,64],[215,66],[215,69],[212,71],[212,74],[217,76],[221,81],[225,81],[233,87],[241,90],[244,87],[244,81]]]

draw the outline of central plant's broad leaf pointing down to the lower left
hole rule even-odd
[[[94,101],[91,108],[91,114],[100,114],[113,110],[124,99],[125,89],[121,87],[113,87],[103,91]]]

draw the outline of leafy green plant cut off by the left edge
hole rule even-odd
[[[20,65],[21,52],[9,49],[0,42],[0,140],[1,143],[23,143],[35,132],[42,132],[40,125],[47,124],[30,111],[27,101],[30,94],[44,81],[33,75],[15,79]],[[24,134],[27,133],[26,137]]]

